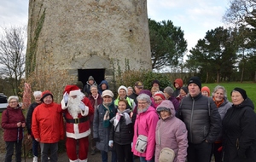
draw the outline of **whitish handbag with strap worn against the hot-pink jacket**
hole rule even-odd
[[[138,135],[138,123],[137,123],[137,142],[135,149],[139,153],[145,153],[148,145],[148,136]]]

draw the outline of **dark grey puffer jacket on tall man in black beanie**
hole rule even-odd
[[[189,142],[199,144],[215,142],[221,131],[221,119],[218,109],[212,98],[201,95],[183,98],[180,103],[180,119],[186,124],[188,129]]]

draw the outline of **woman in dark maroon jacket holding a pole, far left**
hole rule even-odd
[[[8,99],[9,106],[2,114],[3,139],[6,144],[5,162],[11,162],[15,150],[15,159],[21,162],[21,147],[23,129],[26,126],[25,117],[19,106],[19,97],[12,95]],[[15,149],[14,149],[15,147]]]

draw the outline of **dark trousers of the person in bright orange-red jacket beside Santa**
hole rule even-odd
[[[55,143],[40,143],[41,147],[41,162],[48,162],[48,151],[50,153],[50,162],[58,161],[58,142]]]

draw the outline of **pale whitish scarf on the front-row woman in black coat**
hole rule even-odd
[[[125,119],[125,124],[131,124],[131,118],[130,118],[130,109],[125,109],[123,112],[120,112],[118,109],[118,113],[116,113],[115,117],[113,117],[113,119],[110,120],[110,122],[113,123],[114,126],[114,130],[116,132],[119,132],[120,128],[119,128],[119,120],[121,119],[121,117],[124,117]]]

